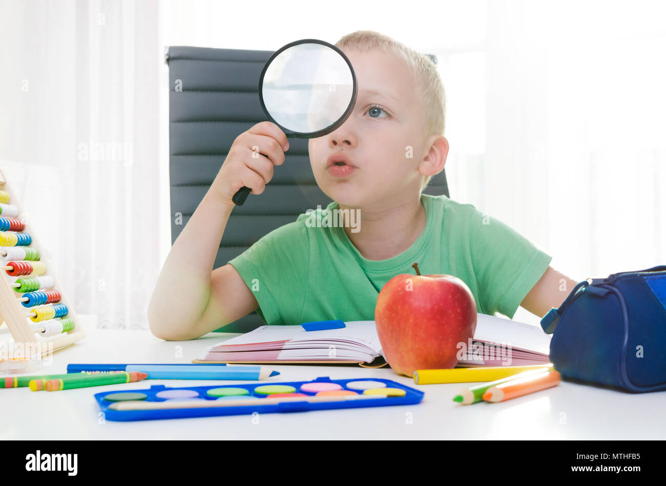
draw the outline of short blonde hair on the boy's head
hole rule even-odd
[[[364,51],[379,49],[383,53],[396,55],[407,65],[416,80],[419,99],[422,100],[426,118],[424,128],[426,137],[430,135],[444,135],[444,121],[446,115],[446,94],[444,84],[437,71],[435,63],[426,55],[417,53],[395,39],[375,31],[356,31],[343,36],[336,47],[342,49],[355,49]],[[432,176],[428,176],[421,191],[426,188]]]

